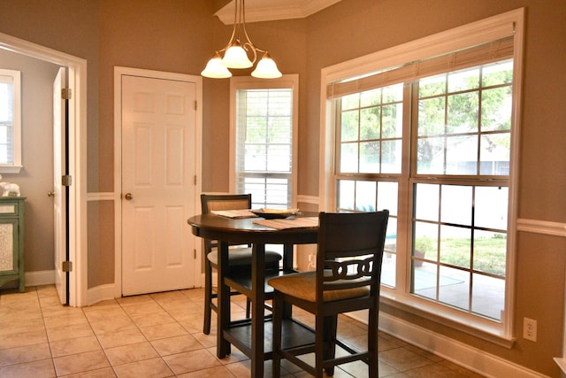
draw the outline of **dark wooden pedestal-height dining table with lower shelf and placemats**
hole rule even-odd
[[[231,217],[208,213],[195,215],[187,220],[194,235],[218,241],[217,357],[225,358],[233,345],[251,360],[253,378],[263,377],[264,361],[272,359],[272,337],[266,335],[265,326],[271,321],[265,317],[264,301],[266,292],[272,292],[267,280],[273,273],[266,274],[264,268],[265,245],[283,245],[282,268],[274,274],[294,273],[294,245],[317,243],[317,215],[316,212],[305,212],[287,219],[265,220],[254,214],[250,217],[241,214]],[[233,244],[252,245],[251,274],[230,274],[228,250]],[[231,289],[249,297],[249,320],[231,320]],[[291,315],[292,310],[287,307],[285,317],[290,319]],[[271,328],[267,332],[271,333]],[[289,334],[291,333],[303,334],[289,330]]]

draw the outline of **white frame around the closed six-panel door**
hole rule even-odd
[[[122,295],[122,75],[137,75],[154,79],[191,81],[195,83],[195,209],[200,209],[203,173],[203,78],[185,73],[167,73],[129,67],[114,67],[114,297]],[[187,224],[187,227],[188,224]],[[195,236],[192,236],[195,237]],[[195,241],[195,287],[203,286],[201,274],[202,243]]]

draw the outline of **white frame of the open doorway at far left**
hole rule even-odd
[[[0,49],[69,69],[69,305],[87,305],[87,60],[0,33]]]

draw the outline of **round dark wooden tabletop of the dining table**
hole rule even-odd
[[[317,213],[305,213],[302,216],[317,216]],[[254,220],[263,220],[263,218],[233,219],[214,214],[201,214],[190,217],[187,223],[191,226],[194,235],[223,242],[317,243],[318,227],[276,229],[258,225]]]

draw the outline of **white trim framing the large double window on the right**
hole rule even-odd
[[[507,35],[514,35],[514,73],[513,73],[513,111],[512,123],[514,132],[511,141],[511,166],[509,167],[509,249],[506,278],[506,312],[501,314],[501,323],[482,319],[443,307],[431,305],[427,300],[409,295],[409,256],[407,253],[398,254],[397,276],[404,279],[398,289],[382,288],[381,296],[387,304],[416,313],[427,319],[439,321],[452,328],[478,336],[487,341],[510,348],[515,342],[515,329],[513,328],[513,312],[515,303],[515,266],[516,266],[516,203],[518,186],[518,142],[520,140],[520,98],[523,72],[523,45],[524,45],[524,8],[505,12],[500,15],[481,19],[476,22],[455,27],[453,29],[430,35],[413,42],[403,43],[386,50],[380,50],[370,55],[354,58],[334,66],[328,66],[321,71],[320,81],[320,146],[319,146],[319,198],[320,211],[333,211],[335,209],[335,193],[333,185],[335,146],[334,136],[334,109],[333,101],[326,98],[327,85],[333,81],[347,80],[348,78],[371,72],[378,72],[389,67],[399,66],[406,62],[421,58],[432,57],[454,50],[478,45],[500,39]],[[405,215],[403,215],[405,218]],[[410,219],[402,219],[399,223],[402,228],[410,229]],[[407,233],[409,234],[409,233]],[[409,235],[408,235],[409,237]],[[409,243],[406,243],[407,245]]]

